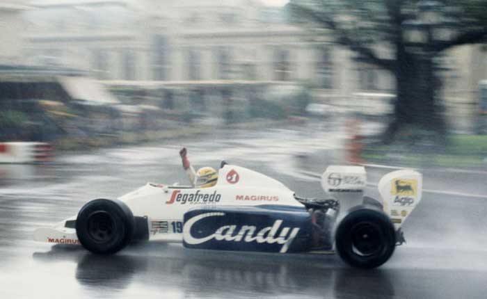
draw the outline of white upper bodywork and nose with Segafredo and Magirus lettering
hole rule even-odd
[[[276,179],[236,165],[224,165],[218,171],[218,182],[211,188],[162,185],[145,186],[118,197],[135,216],[146,216],[149,239],[182,242],[180,227],[183,216],[191,208],[205,206],[255,206],[273,204],[304,207],[294,192]],[[79,243],[76,230],[65,227],[67,220],[35,231],[34,240],[49,243]]]

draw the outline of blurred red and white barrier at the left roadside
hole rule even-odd
[[[51,161],[54,154],[49,143],[0,143],[0,163],[34,163]]]

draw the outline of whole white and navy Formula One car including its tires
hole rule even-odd
[[[146,184],[118,200],[86,203],[77,217],[35,231],[35,241],[81,244],[112,254],[131,241],[182,242],[186,248],[258,252],[335,250],[351,266],[374,268],[404,242],[401,225],[421,200],[422,175],[397,170],[363,196],[365,168],[330,166],[328,197],[298,197],[279,181],[222,162],[210,188]]]

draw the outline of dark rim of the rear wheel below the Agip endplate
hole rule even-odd
[[[373,223],[358,223],[352,229],[353,252],[362,257],[378,254],[384,248],[381,229]]]

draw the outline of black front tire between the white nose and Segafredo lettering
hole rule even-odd
[[[98,254],[113,254],[125,248],[134,229],[134,215],[120,200],[92,200],[79,210],[76,219],[79,242]]]

